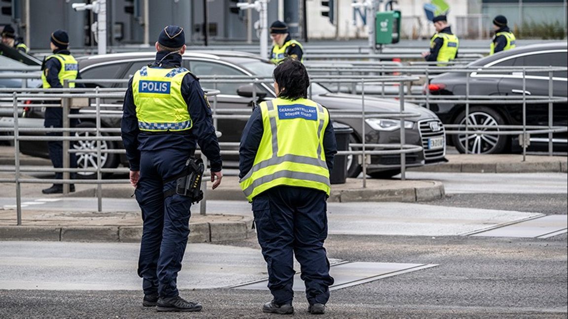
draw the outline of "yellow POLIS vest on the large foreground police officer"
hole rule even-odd
[[[185,68],[144,68],[134,74],[132,93],[140,131],[187,131],[193,127],[181,95]]]

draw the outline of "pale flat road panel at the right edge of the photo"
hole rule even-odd
[[[548,238],[568,232],[568,215],[549,215],[469,234],[483,237]]]

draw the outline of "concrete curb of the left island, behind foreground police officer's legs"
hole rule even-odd
[[[255,236],[252,217],[239,221],[190,223],[188,242],[243,240]],[[142,226],[0,226],[0,240],[140,242]]]

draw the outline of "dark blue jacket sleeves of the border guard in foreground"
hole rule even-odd
[[[244,175],[247,175],[249,170],[252,169],[254,157],[256,157],[263,133],[264,125],[262,124],[260,107],[255,107],[252,111],[252,115],[249,117],[247,125],[245,125],[243,136],[241,136],[239,148],[239,178],[243,178]],[[325,163],[327,163],[327,168],[331,172],[333,169],[333,157],[335,157],[335,153],[337,153],[335,132],[333,132],[331,119],[323,133],[323,150],[325,153]]]

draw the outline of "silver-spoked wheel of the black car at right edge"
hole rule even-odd
[[[454,124],[465,125],[465,111],[456,118]],[[504,125],[505,120],[498,112],[488,107],[472,107],[467,117],[467,125]],[[465,126],[458,131],[465,131]],[[471,129],[470,129],[471,131]],[[498,128],[481,128],[479,131],[499,131]],[[467,141],[466,141],[467,139]],[[506,135],[492,135],[491,133],[480,134],[454,134],[452,135],[453,144],[460,153],[469,154],[494,154],[502,153],[507,146],[508,137]]]

